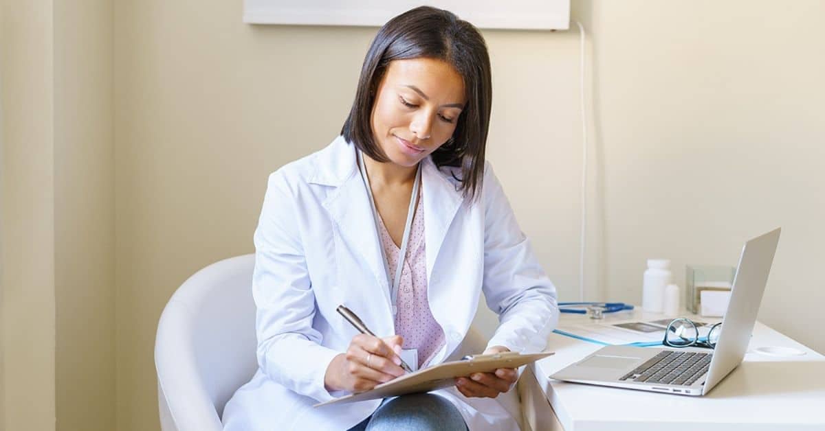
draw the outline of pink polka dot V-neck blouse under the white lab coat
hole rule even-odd
[[[395,315],[395,333],[404,339],[403,349],[418,349],[418,368],[424,368],[444,345],[444,330],[432,316],[427,300],[427,255],[424,241],[424,201],[418,190],[418,205],[410,227],[407,258],[401,272]],[[380,219],[380,217],[379,217]],[[389,274],[398,269],[400,250],[389,237],[384,220],[380,220],[381,245],[389,263]],[[392,283],[392,282],[390,282]]]

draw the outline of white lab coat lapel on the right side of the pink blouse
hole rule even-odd
[[[432,281],[432,269],[444,244],[447,229],[458,213],[463,200],[456,185],[447,180],[430,157],[423,162],[422,186],[424,199],[424,241],[427,244],[427,283]]]

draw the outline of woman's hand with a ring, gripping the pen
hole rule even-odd
[[[369,391],[404,373],[401,368],[401,335],[380,339],[359,334],[352,337],[346,354],[332,358],[323,377],[328,391]]]

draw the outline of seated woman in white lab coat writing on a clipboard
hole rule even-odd
[[[490,82],[482,36],[450,12],[418,7],[381,28],[342,136],[270,176],[252,284],[259,369],[225,429],[517,428],[499,402],[515,369],[313,407],[402,375],[401,358],[463,354],[482,291],[500,317],[484,353],[544,349],[555,288],[484,162]],[[359,334],[342,304],[383,338]]]

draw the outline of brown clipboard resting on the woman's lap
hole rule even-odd
[[[551,354],[554,354],[554,352],[541,352],[538,354],[519,354],[516,352],[476,354],[461,359],[460,361],[440,363],[432,367],[422,368],[417,372],[404,374],[389,382],[381,383],[369,391],[341,396],[334,400],[318,403],[313,407],[435,391],[436,389],[455,386],[455,379],[457,377],[467,377],[474,372],[492,372],[496,368],[519,368],[527,363],[534,363],[541,358],[547,358]]]

